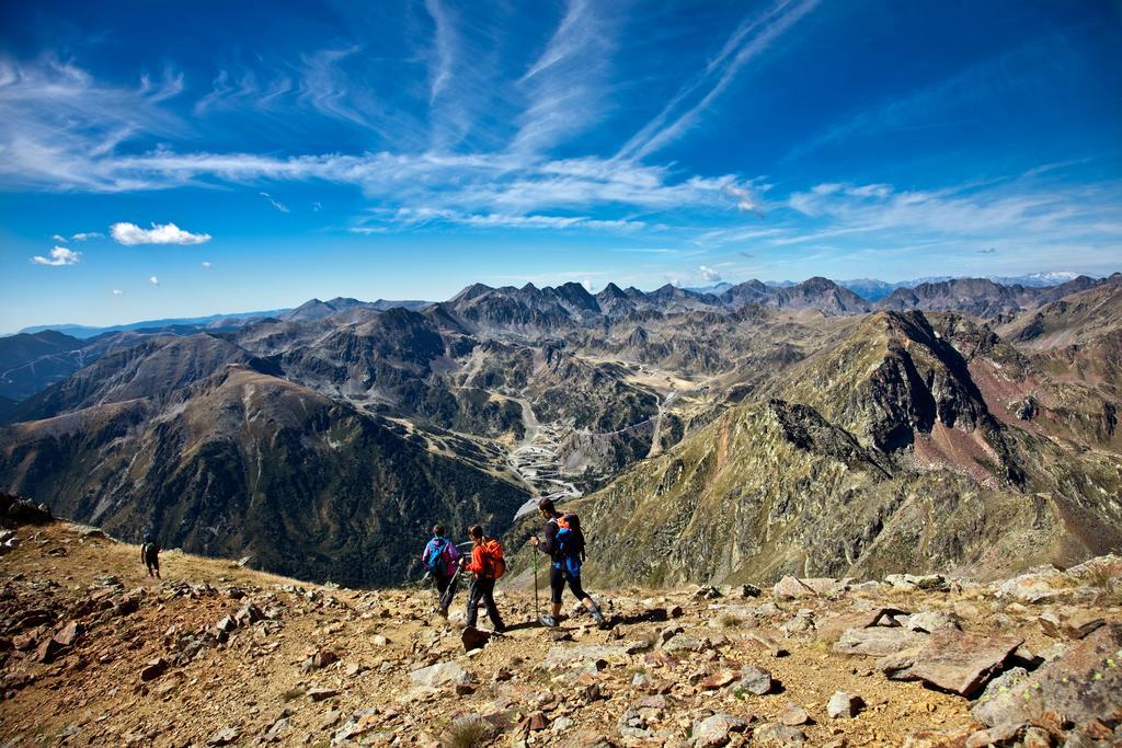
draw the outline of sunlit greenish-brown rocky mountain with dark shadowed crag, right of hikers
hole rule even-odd
[[[877,313],[572,508],[628,538],[610,582],[993,576],[1122,547],[1122,460],[1022,426],[1029,370],[967,318]]]

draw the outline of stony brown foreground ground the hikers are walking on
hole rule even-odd
[[[544,629],[532,592],[507,590],[512,630],[466,654],[462,592],[444,622],[425,590],[177,552],[157,581],[98,530],[16,536],[0,557],[0,746],[1122,740],[1115,557],[1004,584],[603,591],[609,630],[577,615]]]

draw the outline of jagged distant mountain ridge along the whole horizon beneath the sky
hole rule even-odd
[[[232,333],[265,321],[311,323],[339,316],[362,320],[364,314],[392,308],[432,310],[444,329],[461,333],[504,331],[541,335],[576,326],[595,329],[606,322],[642,320],[682,313],[738,313],[758,305],[778,310],[817,311],[828,316],[865,314],[875,310],[965,312],[1002,322],[1021,311],[1048,304],[1067,294],[1093,288],[1106,279],[1070,273],[1045,273],[1003,284],[988,278],[927,279],[889,284],[876,279],[837,283],[815,277],[801,283],[718,283],[702,288],[666,284],[651,292],[609,283],[597,294],[577,283],[537,287],[525,284],[491,287],[472,284],[447,302],[420,299],[362,302],[335,297],[312,298],[297,307],[270,312],[150,320],[110,327],[59,325],[0,338],[0,397],[21,400],[96,360],[102,353],[136,344],[155,334]],[[1043,285],[1058,281],[1058,285]],[[1005,278],[1013,280],[1013,278]],[[71,331],[67,334],[64,331]],[[65,341],[59,343],[58,341]]]

